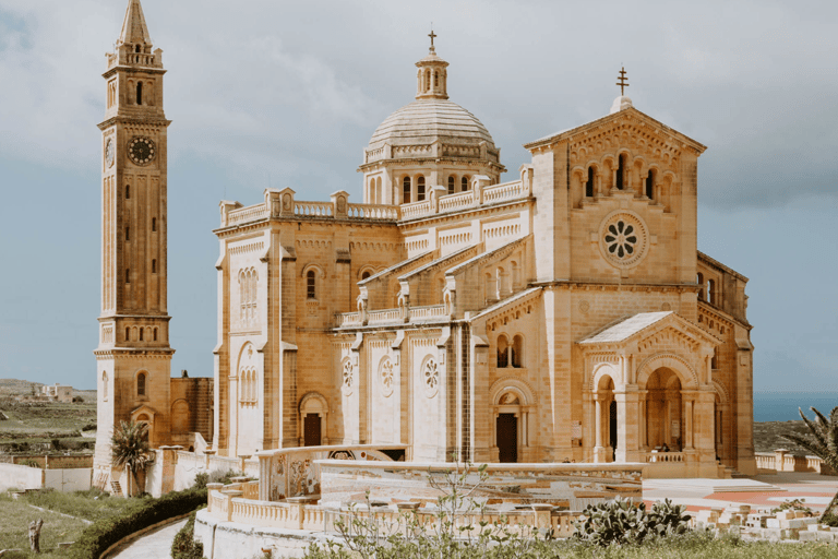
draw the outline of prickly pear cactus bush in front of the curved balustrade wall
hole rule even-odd
[[[684,534],[689,530],[686,507],[672,504],[667,499],[656,502],[650,512],[646,504],[616,498],[589,504],[584,520],[576,523],[575,538],[599,546],[611,544],[641,544],[649,537]]]

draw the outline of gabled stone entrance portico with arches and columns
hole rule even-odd
[[[715,477],[710,358],[720,343],[674,312],[634,314],[578,343],[595,462]]]

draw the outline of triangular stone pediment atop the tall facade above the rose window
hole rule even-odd
[[[696,155],[701,155],[707,150],[704,144],[634,107],[524,144],[524,147],[535,152],[552,144],[570,143],[572,153],[574,147],[577,150],[588,147],[590,151],[591,148],[596,150],[598,145],[600,146],[598,151],[601,152],[609,144],[614,144],[615,141],[622,145],[626,138],[628,142],[635,142],[641,147],[647,146],[653,153],[660,151],[662,154],[669,154],[670,157],[677,157],[686,150]]]

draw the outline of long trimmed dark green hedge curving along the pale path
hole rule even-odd
[[[70,548],[70,559],[98,559],[111,545],[145,527],[194,511],[206,503],[206,489],[170,492],[147,499],[125,514],[97,521],[82,532]]]

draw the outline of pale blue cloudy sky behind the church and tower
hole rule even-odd
[[[105,52],[127,0],[0,0],[0,378],[95,388]],[[756,392],[838,393],[838,4],[143,0],[164,50],[172,372],[212,376],[219,200],[361,200],[428,51],[514,180],[526,142],[634,106],[708,146],[698,248],[751,281]]]

